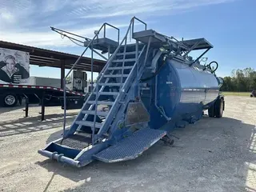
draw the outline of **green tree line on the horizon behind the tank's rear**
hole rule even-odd
[[[256,71],[252,68],[232,70],[231,76],[223,78],[221,90],[238,92],[256,90]]]

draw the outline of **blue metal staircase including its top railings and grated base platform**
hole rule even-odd
[[[93,39],[84,42],[86,50],[107,51],[109,59],[70,129],[65,130],[64,122],[63,138],[51,142],[45,150],[38,150],[39,154],[74,166],[85,166],[94,159],[117,162],[138,157],[166,135],[165,130],[150,129],[148,111],[139,99],[139,80],[146,70],[148,55],[153,52],[150,52],[151,37],[146,37],[144,42],[136,39],[136,43],[127,44],[129,32],[134,36],[135,20],[142,22],[132,18],[120,43],[106,38],[106,25],[111,26],[107,23],[96,31]],[[146,23],[142,24],[146,31]],[[98,38],[102,29],[104,37]],[[157,55],[159,58],[161,54]],[[101,106],[108,110],[99,110]],[[133,112],[135,110],[136,113]],[[127,118],[126,114],[131,114],[131,118]],[[135,130],[130,131],[130,127]],[[136,143],[140,140],[142,142]]]

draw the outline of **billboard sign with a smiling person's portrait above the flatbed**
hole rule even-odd
[[[29,84],[30,54],[0,48],[0,84]]]

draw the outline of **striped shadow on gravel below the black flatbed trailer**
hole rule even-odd
[[[70,124],[77,113],[68,113],[66,123]],[[30,132],[49,130],[62,126],[63,114],[47,114],[46,121],[41,121],[41,116],[18,118],[14,121],[0,122],[0,138],[15,134],[27,134]]]

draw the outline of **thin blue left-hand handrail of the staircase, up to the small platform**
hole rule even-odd
[[[78,62],[80,62],[82,56],[86,53],[86,50],[88,50],[88,48],[90,48],[90,46],[92,47],[93,42],[94,42],[94,39],[98,37],[98,34],[100,33],[100,31],[102,30],[103,27],[104,27],[104,37],[106,37],[106,25],[107,25],[107,26],[111,26],[111,27],[113,27],[114,29],[117,29],[117,30],[118,30],[118,39],[119,39],[119,29],[118,29],[117,27],[112,26],[112,25],[110,25],[109,23],[106,23],[106,22],[105,22],[105,23],[99,28],[97,34],[94,35],[94,38],[92,38],[92,39],[87,38],[87,41],[90,41],[89,44],[86,46],[86,49],[82,52],[82,54],[79,56],[79,58],[77,59],[77,61],[74,62],[74,65],[71,67],[71,69],[69,70],[69,72],[68,72],[68,73],[66,74],[66,76],[63,78],[63,100],[64,100],[64,102],[63,102],[64,107],[63,107],[63,108],[64,108],[64,120],[63,120],[63,138],[62,138],[62,140],[63,140],[64,137],[65,137],[65,130],[66,130],[66,78],[70,75],[71,71],[74,70],[74,67],[78,64]],[[51,29],[54,30],[54,27],[51,27]],[[56,28],[55,28],[55,29],[56,29]],[[55,30],[55,31],[56,31],[56,30]],[[63,30],[62,30],[62,32],[63,32]],[[66,32],[66,31],[65,31],[65,32]],[[58,32],[58,33],[59,33],[59,32]],[[70,33],[70,32],[66,32],[66,33],[72,34],[72,33]],[[63,35],[63,34],[62,34],[62,35]],[[78,37],[80,37],[80,38],[83,38],[83,37],[80,36],[80,35],[76,35],[76,34],[73,34],[73,35],[78,36]],[[119,40],[118,40],[118,41],[119,41]],[[93,47],[92,47],[92,48],[93,48]],[[91,51],[92,51],[92,53],[93,53],[93,49],[92,49]],[[93,58],[92,58],[92,59],[93,59]],[[93,61],[93,60],[92,60],[92,61]],[[93,62],[92,62],[91,68],[92,68],[91,73],[93,73]],[[103,69],[106,69],[106,66],[104,66]],[[93,79],[92,79],[92,83],[93,83]],[[88,97],[88,98],[89,98],[89,97]]]

